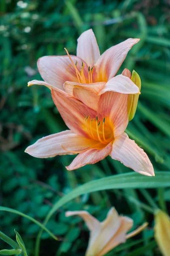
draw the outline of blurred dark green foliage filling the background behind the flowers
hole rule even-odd
[[[24,153],[37,139],[65,129],[50,91],[27,82],[40,79],[37,59],[76,52],[81,32],[93,28],[100,51],[129,37],[141,38],[123,68],[135,69],[142,80],[135,118],[127,133],[144,148],[155,170],[170,170],[170,3],[167,0],[1,0],[0,1],[0,204],[42,222],[53,205],[77,186],[108,175],[129,172],[107,158],[94,166],[68,172],[73,156],[37,159]],[[112,189],[86,193],[59,208],[42,234],[41,255],[84,255],[88,229],[66,210],[86,209],[99,220],[113,205],[129,215],[134,227],[149,222],[135,239],[114,249],[116,256],[159,256],[153,241],[153,208],[169,207],[170,189]],[[0,212],[0,230],[21,234],[28,255],[40,229],[29,219]],[[0,243],[0,249],[6,248]],[[113,252],[108,253],[113,255]]]

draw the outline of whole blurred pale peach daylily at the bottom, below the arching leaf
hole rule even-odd
[[[147,226],[147,223],[144,223],[138,229],[127,234],[133,227],[133,220],[126,216],[119,216],[114,207],[109,210],[106,219],[102,222],[87,211],[68,211],[65,215],[66,217],[79,215],[90,230],[90,239],[85,256],[105,255],[114,247],[125,243],[126,239],[137,235]]]

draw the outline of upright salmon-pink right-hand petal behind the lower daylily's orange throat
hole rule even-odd
[[[106,92],[99,99],[97,116],[107,118],[113,124],[114,137],[121,135],[128,124],[127,94]]]

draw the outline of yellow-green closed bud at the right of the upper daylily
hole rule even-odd
[[[140,94],[140,90],[141,90],[141,79],[135,70],[133,70],[133,72],[132,72],[131,80],[139,88],[139,93],[128,95],[127,113],[128,113],[129,121],[132,120],[133,117],[135,116],[136,108],[138,105],[139,94]]]

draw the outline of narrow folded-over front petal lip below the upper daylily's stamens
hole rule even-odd
[[[73,89],[74,88],[83,88],[86,90],[91,91],[92,93],[95,93],[96,95],[99,94],[99,92],[103,89],[105,86],[105,82],[98,82],[98,83],[92,83],[92,84],[82,84],[82,83],[75,83],[66,81],[63,85],[65,91],[73,96]]]

